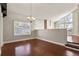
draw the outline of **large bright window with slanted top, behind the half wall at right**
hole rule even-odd
[[[55,22],[55,28],[57,29],[67,29],[67,33],[68,35],[72,34],[72,14],[69,14],[65,17],[63,17],[62,19],[60,19],[59,21]]]

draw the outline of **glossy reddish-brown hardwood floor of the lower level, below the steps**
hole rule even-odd
[[[39,39],[4,44],[2,56],[79,56],[79,52]]]

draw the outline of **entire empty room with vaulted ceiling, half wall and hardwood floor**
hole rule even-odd
[[[78,3],[0,3],[1,56],[79,56]]]

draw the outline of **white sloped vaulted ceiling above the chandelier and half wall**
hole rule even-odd
[[[57,18],[73,10],[77,4],[73,3],[32,3],[32,15],[38,19]],[[31,14],[30,3],[8,3],[8,11],[20,15]]]

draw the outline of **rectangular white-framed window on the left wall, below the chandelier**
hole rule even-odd
[[[14,21],[14,35],[30,35],[31,24],[30,22]]]

